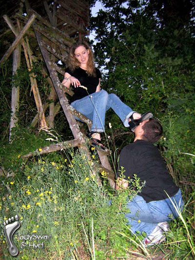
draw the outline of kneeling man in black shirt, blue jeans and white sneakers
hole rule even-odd
[[[136,128],[135,140],[125,146],[119,156],[116,189],[128,187],[128,179],[136,174],[140,181],[146,181],[141,192],[127,203],[130,213],[125,214],[131,230],[146,233],[145,245],[165,240],[163,231],[168,222],[178,215],[171,200],[182,208],[181,191],[176,187],[154,142],[162,136],[162,126],[154,119],[140,122]],[[124,167],[125,179],[119,178],[120,167]],[[171,200],[169,199],[171,198]]]

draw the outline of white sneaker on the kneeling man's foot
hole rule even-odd
[[[147,238],[145,238],[143,242],[145,247],[148,247],[154,244],[159,244],[165,239],[166,237],[163,235],[162,228],[157,225],[153,232]]]

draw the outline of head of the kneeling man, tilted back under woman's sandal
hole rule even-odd
[[[162,136],[162,126],[155,118],[144,120],[135,129],[136,139],[156,142]]]

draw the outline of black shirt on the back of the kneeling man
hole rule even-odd
[[[132,179],[136,174],[140,181],[146,181],[138,195],[147,203],[167,199],[167,194],[172,197],[179,189],[173,182],[160,151],[151,142],[136,140],[125,146],[120,152],[118,170],[121,166],[124,167],[126,180],[128,177]],[[120,174],[118,170],[117,177]]]

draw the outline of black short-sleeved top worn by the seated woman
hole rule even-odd
[[[80,81],[81,86],[87,88],[86,90],[82,87],[72,86],[75,94],[73,95],[71,102],[75,100],[80,100],[96,92],[97,86],[99,84],[99,79],[101,79],[101,73],[97,68],[96,68],[96,77],[88,76],[86,70],[83,70],[80,67],[76,68],[74,71],[71,71],[69,68],[67,68],[66,72],[71,76],[75,77],[76,79],[78,79]]]

